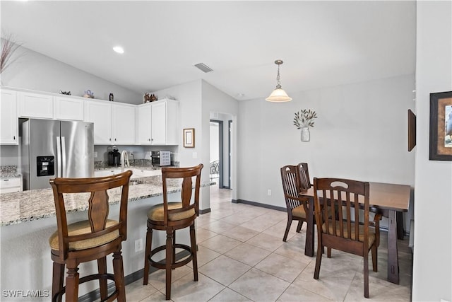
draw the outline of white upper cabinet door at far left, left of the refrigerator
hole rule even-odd
[[[18,144],[17,93],[8,89],[0,91],[0,144]]]

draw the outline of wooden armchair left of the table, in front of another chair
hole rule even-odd
[[[285,165],[281,170],[283,181],[283,192],[287,208],[287,226],[285,228],[283,241],[287,240],[292,221],[297,220],[297,233],[302,229],[303,222],[307,222],[308,207],[307,197],[300,197],[299,168],[297,165]]]

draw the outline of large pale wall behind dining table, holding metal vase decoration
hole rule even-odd
[[[309,164],[311,178],[414,187],[415,153],[408,152],[407,135],[414,88],[408,75],[291,93],[288,103],[240,102],[238,198],[285,207],[280,168],[299,162]],[[301,141],[293,125],[301,109],[318,115],[309,142]]]

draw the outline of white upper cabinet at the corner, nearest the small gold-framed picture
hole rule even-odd
[[[139,105],[138,144],[177,145],[179,102],[177,100],[157,100]]]

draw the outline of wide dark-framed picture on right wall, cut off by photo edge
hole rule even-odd
[[[430,93],[430,161],[452,161],[452,91]]]

